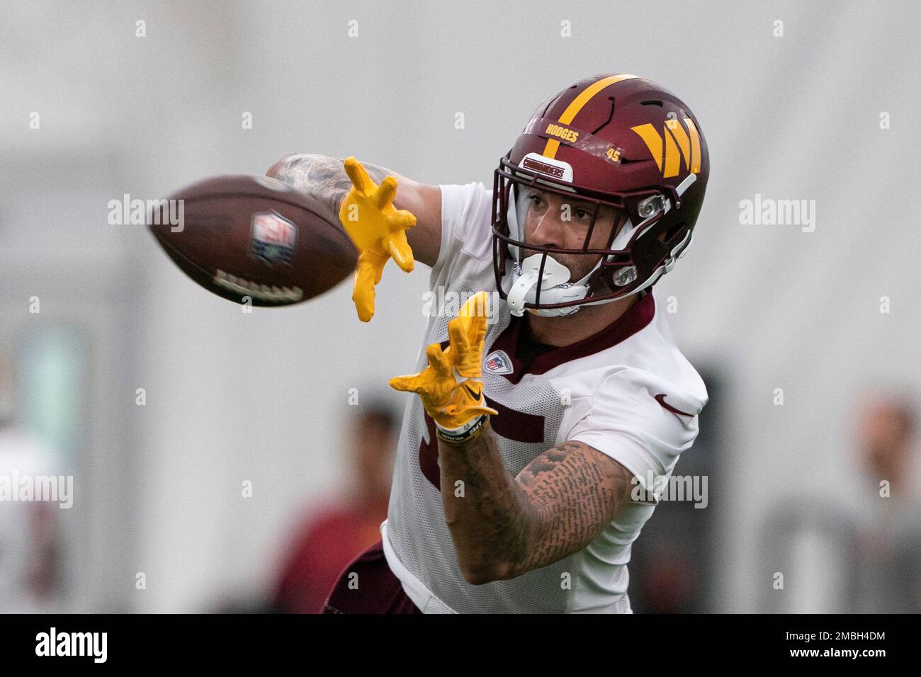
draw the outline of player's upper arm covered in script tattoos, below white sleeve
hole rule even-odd
[[[542,525],[535,554],[555,561],[588,545],[630,501],[632,477],[583,442],[564,442],[530,461],[516,480]]]

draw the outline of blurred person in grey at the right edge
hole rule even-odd
[[[857,413],[865,498],[854,543],[855,611],[921,612],[921,491],[917,414],[901,395],[876,395]]]

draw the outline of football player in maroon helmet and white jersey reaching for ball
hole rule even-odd
[[[268,173],[339,216],[361,320],[391,258],[469,299],[429,318],[417,373],[391,379],[419,396],[388,519],[327,611],[629,613],[650,481],[694,443],[707,401],[652,290],[704,200],[694,114],[645,78],[594,76],[538,107],[492,190],[316,155]]]

